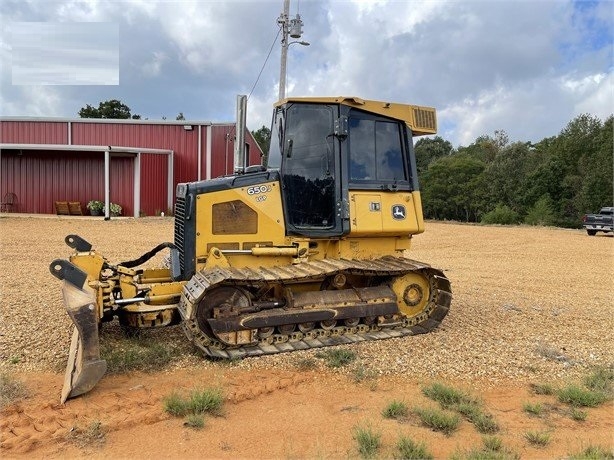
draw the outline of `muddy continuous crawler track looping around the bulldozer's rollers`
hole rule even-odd
[[[323,276],[336,273],[363,276],[403,276],[420,271],[430,280],[431,297],[420,314],[406,318],[396,326],[359,324],[356,327],[340,326],[331,330],[312,331],[282,335],[274,334],[258,345],[226,348],[214,338],[204,334],[196,321],[196,309],[206,292],[220,285],[260,287],[265,284],[318,280]],[[452,292],[448,278],[440,270],[410,259],[386,256],[374,260],[326,259],[305,262],[297,265],[258,268],[221,268],[203,270],[196,273],[186,283],[179,313],[183,319],[182,327],[188,339],[207,356],[213,358],[236,359],[247,356],[262,356],[295,350],[306,350],[333,345],[382,340],[409,335],[424,334],[432,331],[448,314]]]

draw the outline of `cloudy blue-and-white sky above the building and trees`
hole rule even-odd
[[[0,116],[77,118],[119,99],[158,120],[250,130],[278,98],[283,1],[2,0]],[[435,107],[455,147],[557,135],[614,111],[614,1],[291,0],[288,96]]]

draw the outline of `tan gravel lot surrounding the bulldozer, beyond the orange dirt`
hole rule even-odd
[[[70,254],[64,244],[70,233],[119,262],[172,241],[173,221],[0,218],[0,368],[63,369],[70,320],[60,282],[48,267]],[[450,314],[428,335],[353,345],[369,372],[496,385],[576,378],[593,365],[614,364],[614,238],[428,222],[414,241],[408,256],[443,269],[452,282]],[[210,365],[196,357],[178,328],[155,334],[185,352],[176,366]],[[315,353],[234,365],[295,368],[297,359]]]

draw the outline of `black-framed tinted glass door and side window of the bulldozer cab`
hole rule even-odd
[[[350,191],[417,189],[407,123],[370,111],[364,102],[332,102],[285,100],[273,115],[264,166],[280,171],[291,235],[348,234]]]

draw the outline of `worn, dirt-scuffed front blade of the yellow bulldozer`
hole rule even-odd
[[[64,307],[75,328],[68,353],[61,403],[90,391],[107,370],[107,362],[100,359],[96,299],[89,286],[79,289],[64,280]]]

